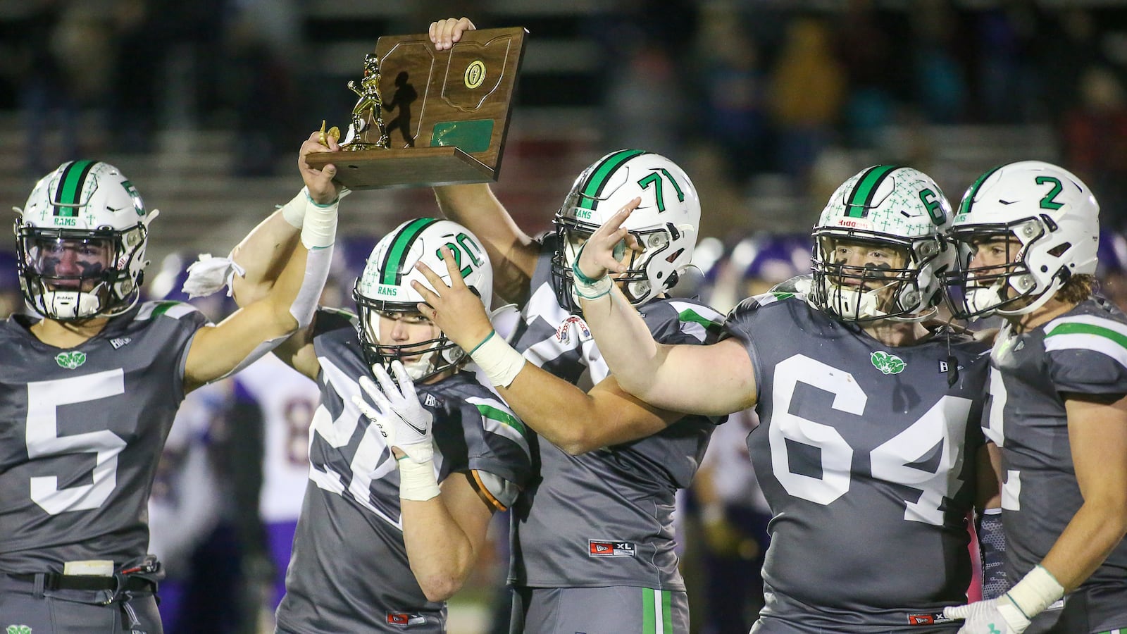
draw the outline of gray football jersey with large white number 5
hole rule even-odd
[[[36,338],[34,322],[0,325],[0,571],[134,563],[149,548],[145,502],[206,319],[187,303],[148,302],[66,350]]]

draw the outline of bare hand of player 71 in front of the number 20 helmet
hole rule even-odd
[[[492,332],[482,303],[489,298],[479,298],[465,285],[458,259],[450,248],[442,247],[442,261],[446,264],[449,285],[426,264],[419,262],[415,265],[434,288],[432,291],[419,282],[411,282],[411,287],[426,300],[426,303],[418,305],[418,310],[438,326],[446,338],[470,352]]]

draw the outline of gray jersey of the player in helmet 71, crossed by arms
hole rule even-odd
[[[583,319],[556,299],[551,241],[542,247],[533,293],[511,341],[532,363],[587,389],[606,377],[606,362]],[[713,341],[722,320],[682,299],[651,301],[641,314],[655,338],[671,344]],[[648,438],[582,456],[538,435],[540,477],[513,509],[509,582],[684,590],[674,553],[674,495],[692,482],[715,425],[686,416]]]

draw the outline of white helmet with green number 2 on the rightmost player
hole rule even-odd
[[[1024,315],[1073,275],[1094,274],[1099,214],[1091,190],[1051,164],[1023,160],[979,176],[964,194],[951,229],[959,267],[944,281],[953,291],[955,315]],[[977,243],[999,238],[1009,239],[1006,263],[971,268]],[[1009,308],[1017,302],[1022,306]]]

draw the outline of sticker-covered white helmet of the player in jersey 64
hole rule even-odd
[[[943,299],[940,275],[955,263],[944,237],[951,205],[939,185],[911,167],[877,165],[845,180],[814,227],[809,302],[844,322],[920,322]],[[898,267],[849,266],[838,240],[893,247]]]

